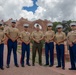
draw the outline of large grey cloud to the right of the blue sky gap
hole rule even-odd
[[[38,0],[37,5],[46,10],[42,11],[43,19],[52,21],[75,20],[76,0]]]

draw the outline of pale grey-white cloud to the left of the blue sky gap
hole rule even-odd
[[[0,19],[19,19],[23,6],[33,6],[32,0],[0,0]]]

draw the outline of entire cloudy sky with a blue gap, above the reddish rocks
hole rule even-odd
[[[0,0],[0,20],[76,20],[76,0]]]

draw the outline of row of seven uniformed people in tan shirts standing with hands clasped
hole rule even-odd
[[[56,68],[65,69],[65,46],[64,41],[67,40],[69,45],[69,53],[70,53],[70,61],[71,61],[71,68],[69,70],[76,70],[76,23],[73,22],[70,24],[72,31],[66,34],[63,32],[63,26],[58,24],[56,26],[57,32],[55,33],[52,30],[53,24],[47,24],[47,31],[43,33],[40,30],[39,24],[36,25],[35,30],[30,33],[28,31],[29,24],[24,24],[24,30],[20,32],[16,27],[16,21],[11,21],[11,27],[3,30],[2,23],[0,22],[0,69],[4,70],[3,68],[3,51],[4,51],[4,41],[5,35],[8,37],[7,41],[7,68],[10,68],[10,58],[11,52],[13,50],[14,55],[14,65],[19,67],[17,61],[17,39],[20,38],[21,44],[21,66],[25,67],[24,65],[24,58],[26,53],[26,65],[30,65],[30,43],[32,43],[32,66],[35,66],[35,57],[36,51],[38,51],[38,59],[39,65],[42,66],[42,40],[45,41],[45,65],[52,67],[54,65],[54,42],[56,43],[56,54],[57,54],[57,66]],[[50,60],[49,60],[50,59]]]

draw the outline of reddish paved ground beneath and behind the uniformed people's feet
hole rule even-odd
[[[5,46],[4,49],[4,68],[5,70],[0,70],[0,75],[76,75],[76,71],[69,71],[68,68],[70,67],[70,63],[66,62],[66,69],[62,70],[61,68],[57,69],[56,66],[56,59],[55,59],[55,66],[50,67],[44,67],[39,66],[38,63],[36,63],[36,66],[26,66],[25,68],[22,68],[21,66],[19,68],[16,68],[13,63],[13,54],[11,56],[11,64],[10,68],[6,68],[6,57],[7,57],[7,47]],[[36,58],[37,59],[37,58]],[[20,53],[18,52],[18,62],[20,65]],[[31,62],[31,60],[30,60]],[[36,61],[37,62],[37,61]],[[43,56],[43,63],[45,62],[44,56]]]

